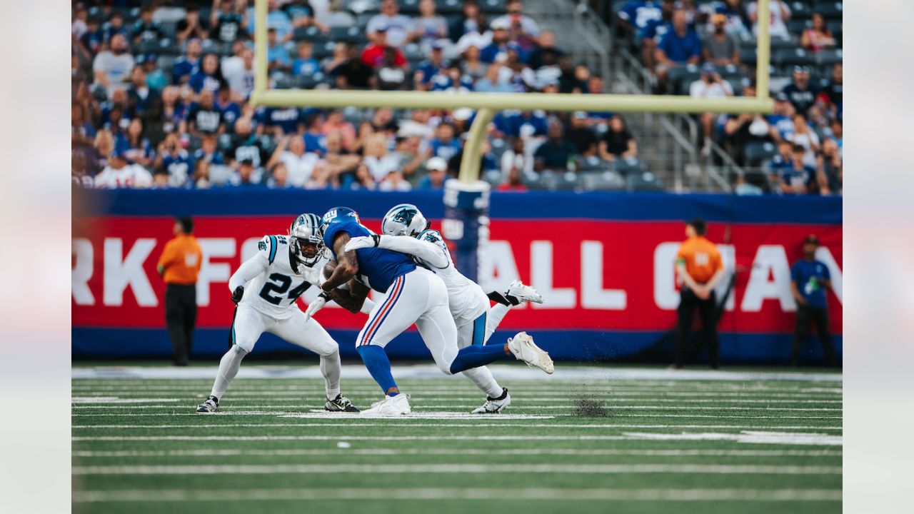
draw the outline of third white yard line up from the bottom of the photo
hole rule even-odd
[[[287,450],[252,450],[218,449],[218,450],[115,450],[94,451],[76,450],[74,457],[181,457],[181,456],[302,456],[302,455],[633,455],[633,456],[728,456],[728,457],[782,457],[809,456],[829,457],[844,455],[840,450],[604,450],[573,448],[530,448],[515,450],[478,450],[474,448],[368,448],[368,449],[334,449],[305,450],[292,448]]]

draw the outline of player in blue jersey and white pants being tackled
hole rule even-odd
[[[533,343],[532,337],[514,337],[505,345],[458,348],[447,286],[438,275],[417,266],[404,253],[381,248],[345,251],[346,243],[352,238],[374,235],[359,222],[355,210],[345,207],[328,210],[321,228],[324,244],[337,261],[333,273],[320,284],[327,298],[352,311],[361,307],[368,288],[383,294],[356,338],[356,350],[385,393],[383,400],[372,404],[363,414],[409,414],[409,400],[394,381],[384,347],[413,323],[445,374],[478,368],[511,355],[547,373],[553,372],[552,359]],[[337,289],[344,284],[349,284],[348,289]]]

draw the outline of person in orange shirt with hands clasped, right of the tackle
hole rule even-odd
[[[715,286],[724,277],[724,263],[713,242],[707,241],[705,220],[696,218],[685,224],[688,238],[676,254],[676,274],[682,280],[679,307],[676,309],[675,369],[682,369],[685,342],[692,330],[696,308],[701,319],[701,338],[707,344],[711,369],[720,367],[717,342],[717,294]]]

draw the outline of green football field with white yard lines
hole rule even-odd
[[[413,414],[323,412],[313,363],[80,367],[74,512],[841,511],[842,378],[830,372],[494,366],[505,413],[433,366],[399,366]],[[380,399],[361,366],[343,392]]]

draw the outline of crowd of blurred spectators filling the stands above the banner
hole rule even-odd
[[[440,188],[457,174],[472,110],[253,108],[253,1],[97,4],[76,4],[72,15],[76,185],[408,190]],[[739,0],[726,3],[733,5]],[[602,78],[558,48],[555,35],[541,30],[523,7],[520,0],[270,0],[270,84],[605,92]],[[648,27],[639,23],[651,19],[643,9],[654,7],[654,36],[642,37]],[[719,24],[717,15],[709,16],[711,26]],[[670,84],[679,69],[682,76],[694,71],[683,62],[705,59],[701,79],[689,91],[734,94],[717,73],[718,67],[739,65],[736,53],[724,55],[733,46],[730,36],[715,42],[709,33],[711,51],[679,60],[695,49],[696,29],[707,28],[693,2],[630,2],[619,16],[632,21],[634,39],[662,88],[674,91]],[[746,16],[739,10],[736,17]],[[733,23],[727,19],[727,27]],[[804,33],[803,41],[827,48],[827,38],[816,32],[821,25]],[[768,155],[782,163],[774,174],[781,192],[840,191],[840,64],[830,90],[811,85],[802,67],[795,76],[784,91],[788,101],[779,102],[773,116],[706,115],[705,135],[719,138],[740,162],[753,145],[802,146],[802,166],[794,163],[793,146],[781,145],[787,154],[780,157]],[[747,84],[740,92],[750,89]],[[624,119],[611,112],[505,111],[492,127],[482,170],[500,190],[523,191],[539,177],[573,175],[569,171],[642,169]],[[813,179],[801,186],[794,172]],[[822,173],[828,187],[813,187]]]

